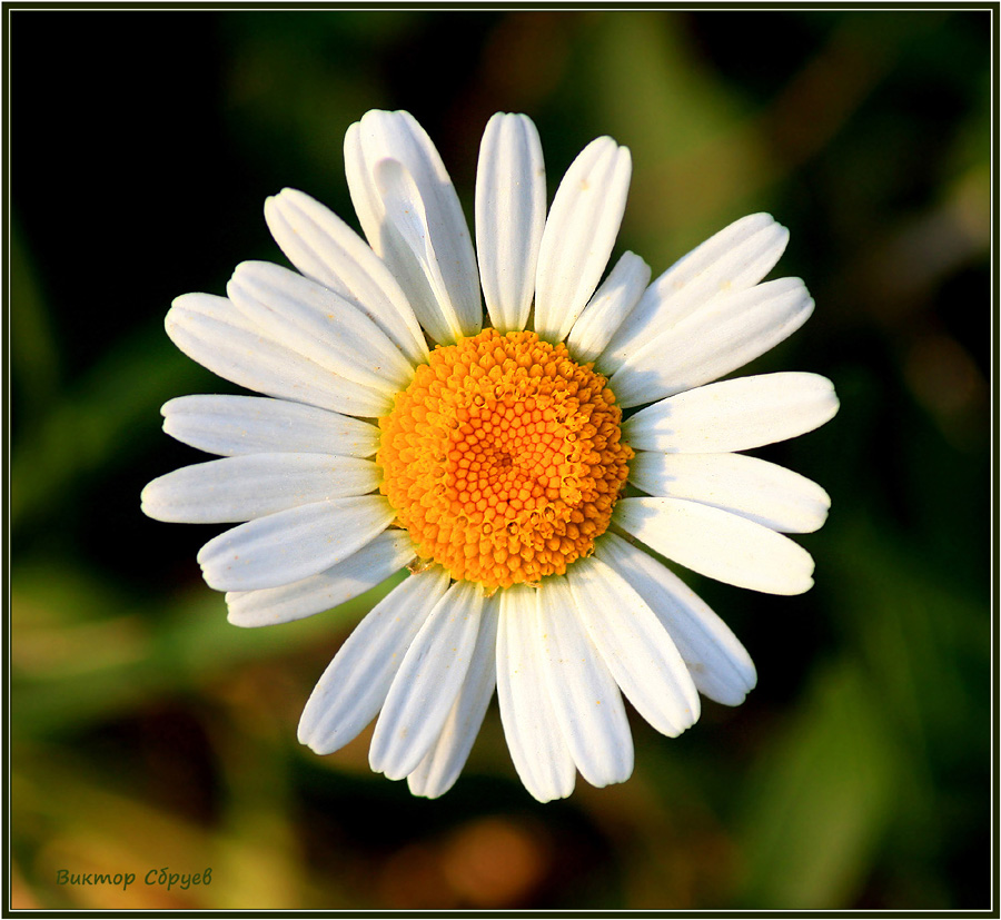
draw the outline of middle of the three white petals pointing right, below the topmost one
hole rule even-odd
[[[630,464],[630,482],[657,497],[701,502],[787,534],[817,530],[831,507],[816,483],[742,454],[640,451]]]

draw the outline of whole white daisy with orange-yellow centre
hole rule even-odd
[[[833,387],[718,380],[813,310],[800,279],[762,281],[789,234],[752,215],[652,284],[632,253],[603,281],[631,174],[611,138],[584,148],[547,212],[535,126],[495,115],[476,251],[410,115],[365,115],[345,161],[367,243],[286,189],[265,217],[297,270],[244,263],[226,297],[175,300],[175,344],[265,395],[167,403],[165,431],[222,458],[155,479],[143,511],[237,524],[198,561],[240,626],[310,616],[409,568],[309,698],[299,740],[317,753],[378,716],[373,770],[440,795],[496,689],[536,799],[568,795],[577,772],[622,782],[623,695],[673,736],[700,694],[736,705],[756,681],[660,556],[755,591],[812,584],[785,534],[820,527],[826,493],[740,452],[824,424]]]

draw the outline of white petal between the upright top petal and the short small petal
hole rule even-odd
[[[628,149],[599,137],[556,189],[535,281],[535,330],[543,338],[565,338],[597,287],[618,236],[631,174]]]

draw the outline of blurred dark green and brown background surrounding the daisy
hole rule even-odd
[[[10,833],[21,908],[985,908],[991,891],[988,12],[13,11]],[[185,291],[283,260],[267,195],[350,222],[347,126],[405,108],[472,217],[496,110],[551,194],[608,133],[634,177],[616,253],[654,275],[754,210],[817,308],[753,372],[838,386],[760,455],[822,483],[816,587],[690,577],[759,687],[636,772],[539,805],[496,703],[436,802],[317,758],[299,711],[377,593],[270,630],[199,580],[216,530],[139,513],[202,458],[159,429],[230,392],[162,329]],[[150,869],[212,869],[167,891]],[[127,891],[57,873],[133,872]]]

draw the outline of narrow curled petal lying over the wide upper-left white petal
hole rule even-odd
[[[475,335],[482,321],[479,303],[475,315],[453,303],[414,177],[402,162],[390,159],[379,160],[374,175],[385,210],[383,251],[420,324],[439,343]]]

